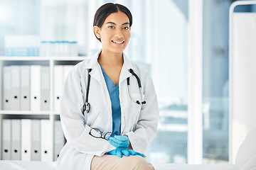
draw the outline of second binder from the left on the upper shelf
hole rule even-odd
[[[11,110],[21,109],[21,68],[20,66],[11,66]]]

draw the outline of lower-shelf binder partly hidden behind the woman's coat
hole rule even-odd
[[[61,128],[60,120],[54,121],[54,157],[53,161],[57,161],[61,149],[65,145],[65,137]]]

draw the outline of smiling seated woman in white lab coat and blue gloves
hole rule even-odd
[[[124,55],[131,26],[125,6],[96,11],[93,30],[102,50],[75,65],[65,81],[60,120],[68,142],[58,169],[154,169],[144,153],[156,136],[159,108],[149,73]]]

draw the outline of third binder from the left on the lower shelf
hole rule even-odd
[[[21,160],[31,161],[31,119],[21,119]]]

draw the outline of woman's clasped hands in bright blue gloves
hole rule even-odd
[[[116,147],[116,149],[107,152],[107,154],[117,155],[117,157],[120,158],[122,155],[129,157],[130,154],[144,157],[144,155],[139,152],[127,149],[129,147],[129,138],[127,136],[114,135],[114,137],[110,137],[108,142],[110,142],[112,146]]]

